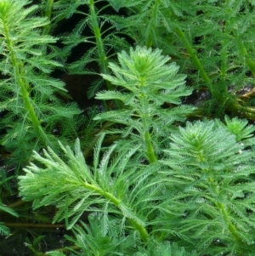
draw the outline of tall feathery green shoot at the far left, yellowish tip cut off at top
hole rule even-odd
[[[65,95],[64,83],[49,77],[62,66],[51,47],[57,38],[42,34],[48,20],[33,16],[37,6],[25,9],[28,3],[0,3],[0,71],[6,77],[0,81],[0,111],[6,111],[0,126],[7,130],[1,143],[17,162],[26,162],[34,149],[54,147],[54,129],[62,139],[76,137],[80,113],[75,103],[64,105],[57,97]]]

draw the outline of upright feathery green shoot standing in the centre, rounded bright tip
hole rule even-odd
[[[177,74],[178,66],[167,64],[169,58],[161,55],[159,49],[131,48],[129,55],[124,51],[118,54],[118,60],[120,65],[109,64],[114,76],[102,75],[117,85],[118,91],[100,92],[96,99],[120,100],[125,107],[100,113],[94,120],[124,124],[126,128],[118,131],[123,137],[137,132],[139,143],[144,141],[148,160],[154,162],[156,156],[151,144],[160,151],[161,137],[169,133],[174,122],[184,121],[185,114],[192,111],[192,107],[180,105],[181,97],[189,95],[191,90],[185,87],[185,76]],[[163,109],[165,102],[180,106]]]

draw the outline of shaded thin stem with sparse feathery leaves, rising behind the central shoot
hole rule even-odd
[[[102,14],[105,9],[111,7],[111,4],[114,4],[116,1],[104,1],[105,5],[98,10],[97,3],[99,2],[102,1],[84,1],[84,4],[87,3],[85,5],[88,5],[88,12],[77,11],[78,14],[84,16],[84,19],[77,24],[71,33],[64,34],[62,37],[63,43],[65,43],[65,51],[67,52],[70,52],[72,48],[79,44],[89,43],[93,45],[93,47],[88,48],[85,54],[82,54],[79,60],[68,65],[68,70],[71,73],[97,74],[96,71],[86,69],[89,63],[97,61],[99,70],[108,74],[108,59],[112,57],[112,53],[127,48],[126,41],[116,35],[116,26],[111,16]],[[93,32],[93,37],[82,36],[82,32],[88,28]],[[101,79],[94,81],[93,86],[88,89],[89,99],[94,97],[102,83]],[[105,83],[108,89],[113,89],[111,82],[106,81]]]

